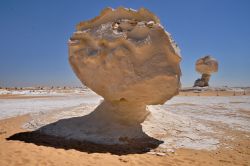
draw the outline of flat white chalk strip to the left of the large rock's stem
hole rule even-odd
[[[28,96],[47,96],[43,98],[20,98],[20,99],[0,99],[0,119],[24,115],[27,113],[45,113],[48,111],[70,109],[80,104],[98,104],[102,97],[97,96],[94,92],[78,93],[56,93],[51,95],[50,92],[39,91],[26,93],[19,92]],[[31,95],[29,95],[31,93]],[[16,94],[16,91],[11,92]],[[37,95],[39,94],[39,95]]]

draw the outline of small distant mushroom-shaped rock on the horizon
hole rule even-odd
[[[208,82],[211,74],[218,71],[218,62],[211,56],[205,56],[196,61],[195,69],[197,72],[202,74],[202,76],[195,81],[194,86],[209,86]]]

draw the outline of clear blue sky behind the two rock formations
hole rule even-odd
[[[182,54],[182,85],[199,74],[195,61],[219,61],[213,86],[250,86],[250,0],[1,0],[0,86],[78,86],[67,41],[80,21],[105,7],[148,8]]]

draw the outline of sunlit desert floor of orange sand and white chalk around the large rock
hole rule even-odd
[[[93,144],[85,144],[82,148],[74,148],[76,146],[65,145],[63,141],[52,140],[51,138],[45,140],[45,142],[34,143],[32,140],[22,141],[21,138],[12,139],[14,135],[18,133],[27,132],[27,126],[24,127],[27,122],[39,122],[34,128],[40,127],[45,123],[49,123],[50,120],[44,122],[41,117],[52,117],[51,121],[57,120],[52,113],[47,114],[45,110],[55,112],[59,110],[64,111],[64,115],[67,114],[67,110],[61,111],[61,107],[66,109],[72,109],[73,105],[81,104],[83,108],[82,98],[78,99],[75,96],[70,98],[57,97],[22,97],[17,96],[1,96],[0,99],[0,111],[2,119],[0,120],[0,166],[7,165],[250,165],[250,98],[248,94],[244,95],[236,93],[236,95],[225,92],[210,93],[197,93],[194,92],[181,92],[180,96],[174,101],[170,101],[160,109],[171,110],[171,114],[166,114],[170,118],[165,119],[171,121],[171,118],[176,118],[177,121],[171,121],[178,126],[171,126],[169,124],[165,126],[155,126],[160,128],[159,130],[150,131],[157,139],[169,142],[169,135],[172,135],[177,141],[172,141],[171,146],[174,150],[164,150],[164,147],[170,146],[170,144],[164,143],[163,148],[156,150],[155,153],[151,152],[131,152],[121,154],[119,148],[109,151],[100,149],[100,146]],[[192,96],[194,98],[192,98]],[[228,97],[229,96],[229,97]],[[216,98],[217,97],[217,98]],[[241,98],[242,97],[242,98]],[[96,99],[96,98],[95,98]],[[97,101],[98,99],[98,101]],[[86,99],[86,103],[98,104],[99,99],[96,99],[96,103],[93,102],[93,98],[90,96]],[[194,101],[199,100],[200,101]],[[52,104],[49,101],[52,100]],[[69,101],[71,104],[63,105],[60,100]],[[211,102],[211,101],[218,102]],[[21,101],[20,103],[18,103]],[[30,102],[31,101],[31,102]],[[22,103],[26,104],[22,105]],[[203,104],[210,102],[209,105]],[[9,104],[8,104],[9,103]],[[33,103],[30,104],[30,103]],[[37,107],[34,107],[34,104]],[[201,103],[200,105],[197,103]],[[16,105],[15,105],[16,104]],[[44,105],[44,113],[37,114],[29,111],[33,109],[39,112]],[[61,106],[62,105],[62,106]],[[14,109],[18,107],[18,109]],[[232,109],[231,109],[232,108]],[[10,109],[11,115],[4,110]],[[92,107],[90,107],[92,109]],[[157,108],[158,109],[158,108]],[[154,118],[159,114],[165,115],[161,110],[153,109],[152,115]],[[188,110],[198,110],[190,111]],[[157,110],[157,111],[155,111]],[[205,111],[204,111],[205,110]],[[214,112],[211,112],[213,111]],[[228,112],[228,110],[230,112]],[[154,113],[154,111],[156,113]],[[186,111],[188,113],[185,113]],[[203,113],[203,111],[205,113]],[[71,111],[72,112],[72,111]],[[73,111],[74,112],[74,111]],[[74,112],[77,113],[77,109]],[[57,113],[58,114],[58,113]],[[215,116],[210,116],[214,114]],[[45,116],[46,115],[46,116]],[[192,119],[197,115],[196,119]],[[182,119],[182,117],[185,117]],[[39,120],[39,121],[38,121]],[[158,119],[160,122],[162,119]],[[190,121],[189,121],[190,120]],[[183,121],[188,121],[191,125],[200,126],[200,128],[193,128],[186,125]],[[147,125],[151,125],[151,121],[147,121]],[[155,122],[152,121],[154,124]],[[30,123],[28,123],[30,124]],[[152,125],[153,125],[152,124]],[[162,124],[162,123],[161,123]],[[161,125],[158,124],[158,125]],[[145,130],[149,130],[145,125]],[[30,126],[29,126],[30,127]],[[28,127],[28,128],[29,128]],[[192,130],[186,130],[191,128]],[[165,135],[161,134],[165,131]],[[172,132],[169,130],[178,130],[178,132]],[[182,130],[183,129],[183,130]],[[190,135],[190,132],[197,132]],[[201,131],[198,131],[201,130]],[[209,130],[209,131],[208,131]],[[30,130],[29,130],[30,131]],[[28,132],[29,132],[28,131]],[[208,133],[206,133],[208,131]],[[205,133],[205,134],[204,134]],[[171,137],[171,139],[172,139]],[[187,137],[189,139],[183,138]],[[191,138],[190,138],[191,137]],[[31,139],[34,139],[31,137]],[[39,138],[37,138],[39,139]],[[204,142],[203,140],[212,140],[210,142]],[[42,140],[44,141],[44,140]],[[28,143],[30,142],[30,143]],[[53,143],[52,143],[53,142]],[[182,145],[178,143],[181,142]],[[79,144],[79,146],[82,146]],[[200,147],[199,147],[200,146]],[[198,147],[198,148],[197,148]],[[129,148],[129,147],[128,147]]]

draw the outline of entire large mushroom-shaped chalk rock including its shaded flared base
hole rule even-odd
[[[141,123],[149,115],[146,105],[178,94],[181,57],[154,14],[107,8],[79,23],[69,40],[69,61],[81,82],[104,101],[88,115],[59,120],[40,133],[98,144],[162,143],[145,134]]]

